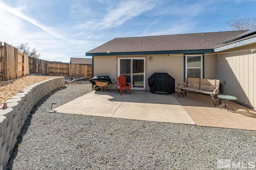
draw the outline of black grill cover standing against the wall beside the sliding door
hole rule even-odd
[[[150,92],[175,92],[175,79],[167,72],[155,72],[148,78]]]

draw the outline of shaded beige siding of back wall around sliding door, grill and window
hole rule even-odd
[[[117,63],[121,57],[145,57],[146,58],[146,90],[148,78],[154,72],[167,72],[175,79],[175,85],[184,82],[184,56],[175,55],[129,55],[129,56],[94,56],[94,76],[109,75],[112,82],[117,81]],[[152,61],[150,61],[152,57]],[[205,55],[204,57],[204,77],[208,79],[216,78],[216,55]],[[115,80],[113,80],[115,79]],[[116,89],[116,86],[110,86],[109,89]]]

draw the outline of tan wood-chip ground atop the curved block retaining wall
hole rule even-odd
[[[35,76],[27,75],[15,78],[13,80],[0,82],[0,105],[6,100],[17,94],[20,90],[30,86],[32,84],[54,78],[56,76]]]

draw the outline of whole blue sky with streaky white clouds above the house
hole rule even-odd
[[[215,32],[255,0],[0,0],[0,41],[29,43],[41,59],[69,62],[114,39]]]

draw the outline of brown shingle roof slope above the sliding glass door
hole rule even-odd
[[[190,33],[148,37],[115,38],[87,53],[119,53],[142,51],[175,51],[214,49],[219,43],[245,31]]]

